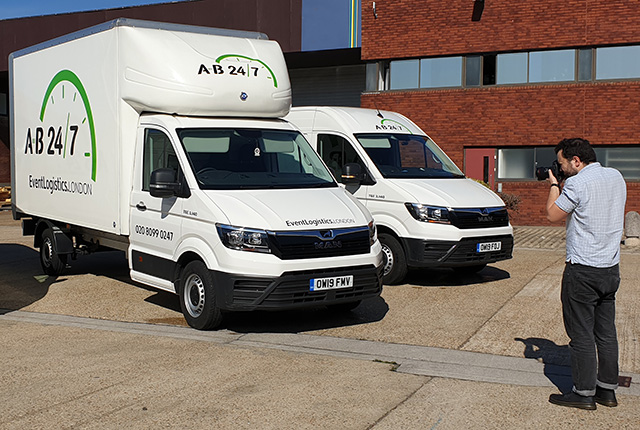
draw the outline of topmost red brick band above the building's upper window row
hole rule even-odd
[[[472,0],[362,2],[362,58],[640,42],[637,0],[487,0],[472,21]]]

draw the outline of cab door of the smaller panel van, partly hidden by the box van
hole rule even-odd
[[[347,190],[364,203],[373,180],[366,164],[353,147],[353,144],[347,138],[335,133],[318,133],[316,139],[316,148],[320,157],[329,166],[329,170],[331,170],[338,182],[343,182],[342,171],[345,164],[357,163],[360,165],[362,172],[365,174],[364,180],[357,186],[348,185]]]

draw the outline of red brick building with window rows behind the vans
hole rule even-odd
[[[639,211],[638,17],[624,0],[363,2],[362,106],[407,115],[468,176],[519,196],[515,225],[548,224],[533,175],[565,137],[619,168]]]

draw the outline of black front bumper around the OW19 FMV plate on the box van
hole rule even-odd
[[[310,291],[315,278],[353,275],[353,286]],[[217,304],[230,311],[285,310],[335,305],[377,297],[382,293],[382,266],[356,266],[285,272],[255,277],[211,271]]]

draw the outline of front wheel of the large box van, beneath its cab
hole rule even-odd
[[[216,306],[213,279],[201,261],[187,264],[180,280],[180,308],[184,319],[198,330],[211,330],[222,322],[222,311]]]

